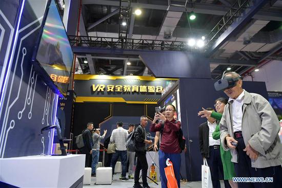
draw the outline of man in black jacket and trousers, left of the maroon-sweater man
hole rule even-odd
[[[148,118],[146,116],[141,116],[140,125],[135,129],[135,154],[137,156],[137,164],[134,173],[134,188],[142,188],[139,183],[139,174],[142,170],[142,182],[144,188],[150,188],[147,182],[147,171],[148,163],[146,159],[146,150],[145,144],[152,144],[151,140],[146,140],[146,130],[145,127],[148,124]]]

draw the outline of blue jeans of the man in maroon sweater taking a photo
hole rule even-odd
[[[174,175],[177,180],[178,187],[180,187],[180,164],[181,164],[180,153],[169,154],[159,149],[158,162],[159,162],[159,174],[160,174],[160,180],[162,182],[162,188],[167,188],[167,177],[165,174],[165,167],[167,167],[166,164],[167,158],[169,158],[173,164]]]

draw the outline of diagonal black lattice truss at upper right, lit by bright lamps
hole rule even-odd
[[[236,34],[248,21],[251,20],[253,15],[267,3],[267,0],[255,0],[253,5],[245,9],[239,17],[213,42],[212,46],[207,50],[208,57],[220,48],[226,41],[228,41],[234,34]]]

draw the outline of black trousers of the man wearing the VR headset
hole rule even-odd
[[[251,159],[243,151],[245,149],[244,138],[235,138],[238,141],[237,153],[238,153],[238,163],[234,163],[235,173],[237,177],[273,177],[272,183],[239,183],[238,187],[242,188],[276,188],[282,186],[282,167],[271,166],[266,168],[254,168],[251,165]]]

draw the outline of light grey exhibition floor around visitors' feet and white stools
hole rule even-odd
[[[106,188],[106,187],[112,187],[112,188],[131,188],[134,184],[134,180],[130,179],[128,181],[121,181],[119,180],[120,174],[115,174],[112,184],[111,185],[95,185],[94,183],[96,182],[96,177],[91,177],[91,185],[83,185],[84,188]],[[154,183],[149,182],[150,187],[152,188],[160,188],[160,182],[158,182],[159,184],[156,185]],[[221,187],[224,187],[224,182],[220,181],[220,185]],[[183,188],[200,188],[202,187],[201,181],[193,181],[193,182],[186,182],[186,183],[182,183],[180,185]]]

